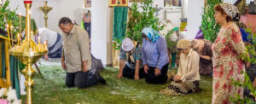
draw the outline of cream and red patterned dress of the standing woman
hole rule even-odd
[[[233,23],[220,30],[212,44],[213,86],[212,104],[230,104],[230,97],[243,95],[243,88],[231,85],[232,79],[244,81],[245,66],[238,56],[245,53],[241,32]]]

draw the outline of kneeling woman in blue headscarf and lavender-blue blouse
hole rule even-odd
[[[143,66],[148,84],[164,84],[167,80],[168,54],[166,40],[152,28],[143,29]]]

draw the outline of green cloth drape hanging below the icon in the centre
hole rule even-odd
[[[113,7],[113,39],[125,38],[127,15],[127,7]]]

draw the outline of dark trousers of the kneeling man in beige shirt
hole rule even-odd
[[[67,72],[66,85],[67,87],[78,87],[83,89],[99,82],[95,72]]]

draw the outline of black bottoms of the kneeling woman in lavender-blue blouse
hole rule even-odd
[[[159,76],[154,75],[154,69],[156,67],[148,66],[148,74],[146,74],[146,82],[148,84],[164,84],[167,81],[168,64],[162,67],[161,74]]]

